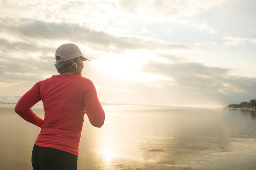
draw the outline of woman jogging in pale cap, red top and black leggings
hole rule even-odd
[[[55,59],[60,74],[37,82],[15,107],[19,116],[41,127],[32,151],[34,170],[76,170],[84,113],[95,127],[105,120],[93,83],[81,76],[82,61],[89,59],[72,43],[58,47]],[[31,110],[40,100],[44,120]]]

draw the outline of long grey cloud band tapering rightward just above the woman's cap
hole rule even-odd
[[[5,20],[1,20],[3,25],[1,32],[17,36],[26,42],[29,40],[37,43],[37,40],[52,41],[71,41],[86,44],[95,50],[122,52],[126,50],[151,49],[151,50],[190,50],[197,48],[200,43],[174,44],[166,43],[155,39],[145,39],[140,37],[117,37],[101,31],[95,31],[89,27],[79,26],[77,24],[65,23],[46,23],[38,20],[23,19],[21,25],[3,24]],[[23,45],[26,45],[23,43]],[[115,48],[109,48],[110,46]]]

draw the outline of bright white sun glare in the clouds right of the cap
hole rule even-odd
[[[126,51],[125,54],[113,54],[101,56],[98,60],[91,61],[103,74],[118,79],[137,82],[150,82],[156,80],[169,80],[169,77],[143,72],[143,65],[155,57],[147,51]]]

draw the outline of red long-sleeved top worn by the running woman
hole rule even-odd
[[[43,101],[45,119],[30,108]],[[84,113],[91,125],[101,127],[105,113],[88,78],[60,74],[37,82],[17,102],[15,112],[41,131],[35,144],[78,155]]]

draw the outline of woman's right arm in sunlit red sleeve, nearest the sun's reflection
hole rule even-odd
[[[83,101],[91,125],[94,127],[101,127],[105,121],[105,112],[101,107],[95,86],[91,80],[89,80],[88,90],[84,94]]]

